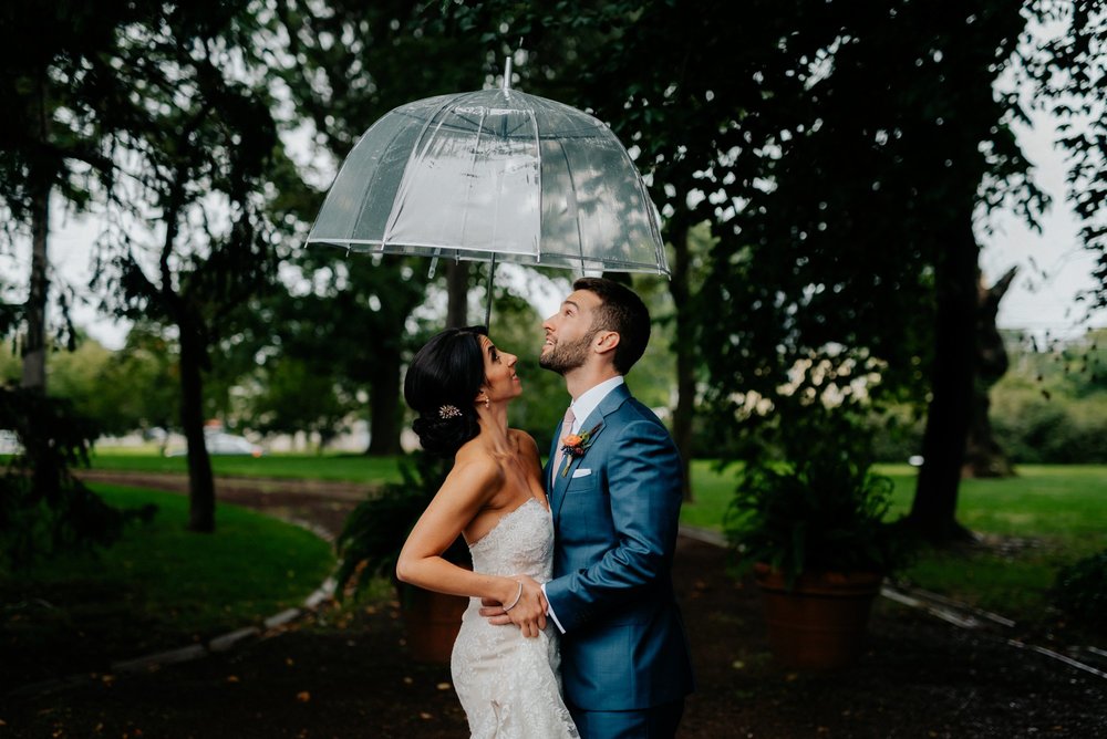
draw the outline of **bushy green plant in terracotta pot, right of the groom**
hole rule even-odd
[[[860,655],[872,601],[908,552],[884,521],[891,480],[871,471],[869,437],[815,413],[785,439],[787,459],[745,466],[725,523],[762,590],[774,656],[800,669]]]

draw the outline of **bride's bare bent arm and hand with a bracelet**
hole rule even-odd
[[[451,595],[492,599],[507,604],[518,597],[508,615],[524,635],[537,636],[538,629],[546,627],[546,610],[537,583],[525,576],[473,572],[442,558],[500,485],[501,471],[493,459],[456,464],[408,534],[396,563],[396,576],[425,590]]]

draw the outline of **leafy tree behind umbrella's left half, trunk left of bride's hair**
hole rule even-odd
[[[484,67],[473,63],[479,49],[476,31],[455,34],[438,22],[433,8],[280,0],[276,10],[289,52],[281,80],[296,105],[297,123],[310,122],[317,154],[332,162],[341,163],[358,137],[392,108],[479,87],[484,81]],[[306,214],[313,216],[314,210]],[[346,394],[368,387],[368,452],[397,452],[404,335],[412,311],[426,294],[428,266],[394,257],[370,263],[369,257],[339,250],[315,250],[296,260],[308,281],[325,283],[319,299],[331,301],[328,331],[314,334],[325,336],[330,345],[318,351],[337,360],[334,372]],[[453,274],[451,315],[458,320],[468,270],[463,266],[442,271]]]

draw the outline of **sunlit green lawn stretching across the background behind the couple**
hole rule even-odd
[[[380,482],[399,479],[397,460],[337,455],[272,455],[260,459],[213,458],[216,473]],[[97,454],[100,469],[185,471],[183,458],[155,454]],[[890,518],[910,510],[917,470],[881,465],[894,490]],[[714,530],[734,491],[734,469],[718,471],[710,460],[692,465],[694,500],[682,521]],[[183,503],[182,503],[183,504]],[[1018,477],[965,480],[958,519],[974,532],[1002,537],[1013,545],[959,551],[924,551],[903,576],[943,593],[1015,618],[1041,618],[1059,566],[1107,548],[1107,466],[1021,466]]]

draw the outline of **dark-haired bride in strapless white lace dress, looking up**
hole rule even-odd
[[[470,599],[451,672],[473,737],[578,737],[541,592],[552,574],[554,523],[538,447],[507,426],[507,406],[523,392],[516,361],[482,326],[446,330],[412,361],[404,381],[420,414],[412,428],[426,451],[453,456],[454,466],[408,535],[396,575]],[[459,534],[473,571],[442,558]],[[482,599],[504,603],[518,629],[489,624]]]

